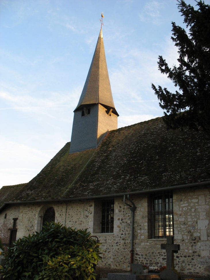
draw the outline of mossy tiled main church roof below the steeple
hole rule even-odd
[[[210,181],[208,136],[202,130],[167,130],[162,118],[112,130],[97,150],[69,154],[69,146],[1,204],[108,197]]]

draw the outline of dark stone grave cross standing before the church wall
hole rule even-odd
[[[174,253],[178,253],[180,245],[173,244],[173,236],[167,236],[166,244],[161,244],[161,249],[166,250],[166,268],[174,269]]]

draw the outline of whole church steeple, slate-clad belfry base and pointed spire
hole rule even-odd
[[[101,28],[85,85],[74,110],[70,153],[96,148],[108,130],[117,129],[118,116]]]

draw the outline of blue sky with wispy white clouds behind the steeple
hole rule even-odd
[[[176,64],[176,0],[1,0],[0,187],[28,182],[70,141],[102,12],[118,127],[163,115],[151,83],[173,90],[157,60]]]

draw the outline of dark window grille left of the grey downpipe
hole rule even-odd
[[[113,233],[114,231],[114,199],[102,201],[102,233]]]

